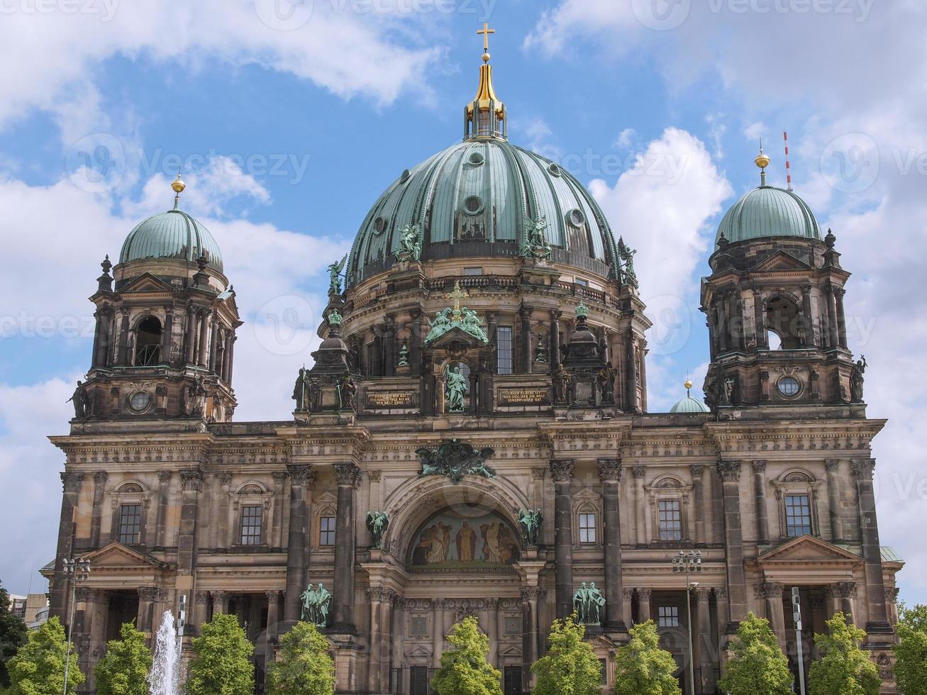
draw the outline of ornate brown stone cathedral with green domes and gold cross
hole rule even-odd
[[[648,411],[632,248],[647,231],[613,231],[507,131],[485,52],[463,140],[390,182],[330,267],[284,422],[233,417],[233,369],[260,367],[235,365],[239,297],[180,176],[173,208],[103,262],[91,367],[70,434],[51,438],[66,465],[44,569],[51,613],[73,609],[84,689],[121,623],[150,640],[184,607],[184,650],[213,615],[238,616],[257,692],[307,618],[338,692],[425,695],[473,615],[504,692],[523,693],[579,596],[603,688],[636,623],[653,619],[683,689],[708,694],[747,613],[797,674],[843,611],[895,692],[903,562],[879,543],[884,421],[847,345],[834,234],[767,183],[761,152],[706,259],[705,402]],[[680,552],[694,574],[673,571]],[[70,558],[92,567],[73,592]]]

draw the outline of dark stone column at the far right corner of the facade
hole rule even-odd
[[[882,573],[882,549],[879,545],[879,527],[875,515],[875,494],[872,490],[872,473],[875,460],[851,461],[853,476],[857,481],[859,503],[859,536],[863,560],[866,562],[866,602],[869,606],[869,622],[866,632],[889,634],[892,625],[888,623],[885,611],[885,584]]]

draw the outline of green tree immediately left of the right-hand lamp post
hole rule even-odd
[[[673,676],[678,669],[673,655],[660,649],[654,621],[634,625],[630,641],[615,654],[616,695],[681,695]]]

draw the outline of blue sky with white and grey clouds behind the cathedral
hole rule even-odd
[[[147,215],[184,209],[225,256],[248,329],[239,419],[286,418],[314,345],[324,266],[402,170],[457,141],[481,39],[510,139],[590,185],[638,248],[654,332],[652,411],[701,383],[698,279],[724,209],[757,183],[760,137],[854,272],[851,342],[870,360],[883,543],[927,600],[918,426],[927,174],[925,9],[897,0],[15,0],[0,15],[0,578],[54,554],[73,380],[89,362],[98,263]],[[79,11],[72,11],[77,7]],[[899,69],[903,67],[903,69]],[[298,315],[282,334],[274,321]],[[32,588],[38,580],[33,575]]]

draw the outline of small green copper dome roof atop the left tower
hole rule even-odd
[[[222,272],[222,253],[209,230],[182,210],[168,210],[139,222],[122,244],[120,262],[182,259],[196,262],[203,252],[210,268]]]

